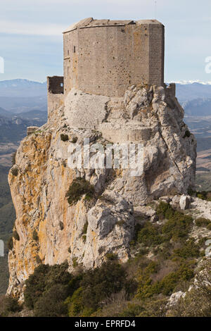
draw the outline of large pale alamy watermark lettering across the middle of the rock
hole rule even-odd
[[[143,174],[143,144],[84,144],[68,147],[68,167],[71,169],[129,169],[130,176]]]

